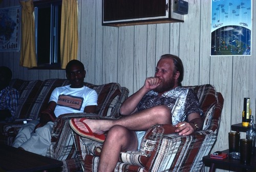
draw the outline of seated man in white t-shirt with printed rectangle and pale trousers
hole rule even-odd
[[[20,128],[13,147],[45,156],[51,144],[53,123],[59,115],[95,112],[98,95],[95,90],[83,84],[86,77],[83,64],[78,60],[71,60],[66,66],[66,76],[71,84],[53,90],[48,107],[41,113],[40,120],[33,120]]]

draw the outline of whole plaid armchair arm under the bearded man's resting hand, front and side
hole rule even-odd
[[[145,134],[139,154],[121,156],[125,157],[121,161],[132,162],[132,165],[140,163],[146,171],[189,171],[190,168],[199,171],[203,165],[202,157],[209,154],[216,141],[216,132],[204,130],[188,136],[179,136],[169,133],[172,130],[170,126],[153,125]],[[134,156],[139,158],[136,163],[133,162]],[[181,162],[182,164],[179,164]]]

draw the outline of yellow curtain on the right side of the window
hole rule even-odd
[[[65,69],[70,60],[77,59],[78,26],[77,0],[62,0],[60,27],[60,60]]]

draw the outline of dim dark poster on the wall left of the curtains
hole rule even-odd
[[[20,49],[20,6],[0,8],[0,52]]]

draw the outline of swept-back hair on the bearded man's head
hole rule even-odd
[[[163,58],[170,58],[170,59],[174,60],[174,66],[175,66],[175,71],[174,72],[177,72],[177,71],[180,72],[180,76],[178,78],[178,83],[181,86],[181,82],[182,82],[183,77],[184,77],[184,68],[183,68],[183,63],[182,63],[180,57],[178,57],[176,55],[173,55],[173,54],[164,54],[164,55],[161,56],[160,59],[163,59]]]

